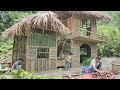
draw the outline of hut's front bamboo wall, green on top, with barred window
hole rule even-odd
[[[28,38],[27,71],[54,70],[57,68],[55,34],[31,33]]]

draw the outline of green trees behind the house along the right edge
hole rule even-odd
[[[98,46],[99,55],[120,57],[120,12],[106,11],[105,13],[112,16],[112,21],[98,22],[98,32],[107,37],[107,42]]]

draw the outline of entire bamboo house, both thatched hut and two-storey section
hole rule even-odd
[[[24,59],[27,71],[64,66],[62,53],[72,52],[72,67],[79,68],[85,57],[97,57],[97,45],[106,38],[97,32],[97,21],[111,17],[98,11],[40,11],[2,33],[14,38],[12,62]]]

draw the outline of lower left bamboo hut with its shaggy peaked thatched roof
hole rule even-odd
[[[12,63],[23,59],[27,71],[57,68],[57,41],[64,40],[70,30],[51,11],[28,16],[2,33],[4,40],[14,38]]]

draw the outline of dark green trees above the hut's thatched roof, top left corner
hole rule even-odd
[[[0,31],[4,31],[21,18],[33,13],[31,11],[0,11]]]

